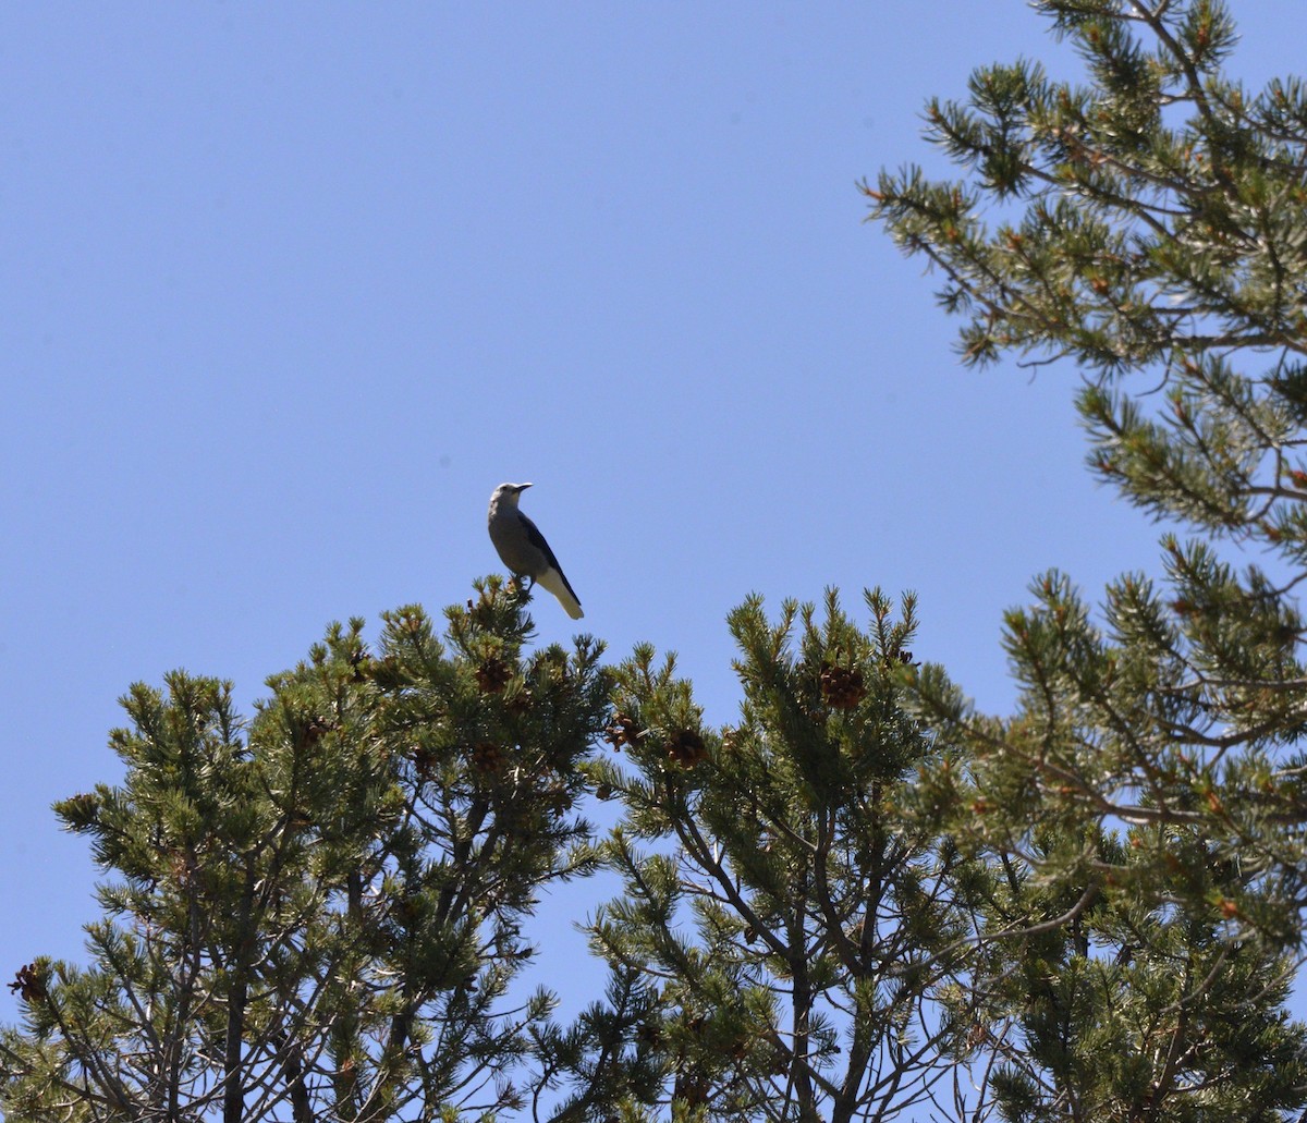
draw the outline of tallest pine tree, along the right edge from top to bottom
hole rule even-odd
[[[1002,1118],[1281,1119],[1304,1075],[1281,1004],[1307,871],[1307,89],[1230,78],[1212,0],[1033,7],[1087,80],[978,69],[927,107],[963,178],[864,191],[944,275],[965,361],[1078,369],[1090,468],[1170,524],[1165,573],[1097,613],[1036,579],[1005,621],[1008,719],[923,668],[950,766],[918,808],[1010,869],[983,1042]]]

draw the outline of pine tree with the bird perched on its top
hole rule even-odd
[[[58,804],[114,876],[90,965],[20,971],[10,1119],[448,1119],[523,1102],[550,997],[506,1003],[608,712],[600,648],[523,654],[498,583],[332,626],[252,720],[182,672],[132,688],[119,786]]]

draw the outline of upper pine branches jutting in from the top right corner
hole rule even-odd
[[[1080,408],[1104,480],[1300,561],[1307,93],[1221,72],[1235,37],[1218,3],[1034,7],[1091,82],[976,71],[965,103],[927,110],[970,178],[885,173],[864,184],[872,216],[944,272],[966,361],[1069,357],[1095,375]],[[1253,356],[1265,367],[1242,370]],[[1138,371],[1161,401],[1115,387]]]

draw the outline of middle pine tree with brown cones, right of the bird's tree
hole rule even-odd
[[[927,1118],[953,1099],[992,873],[901,811],[936,754],[901,705],[914,601],[867,604],[867,631],[834,592],[821,618],[733,612],[744,703],[724,729],[673,658],[640,647],[618,668],[616,753],[592,771],[621,807],[605,854],[625,892],[588,927],[643,1064],[639,1089],[610,1085],[622,1118]]]

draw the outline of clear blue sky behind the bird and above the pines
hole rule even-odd
[[[1235,16],[1234,72],[1300,71],[1307,9]],[[1021,0],[0,9],[0,979],[81,956],[48,807],[119,778],[129,682],[248,710],[328,621],[465,599],[505,480],[714,723],[731,607],[827,584],[916,590],[916,654],[1006,706],[1004,608],[1157,531],[1073,371],[959,366],[855,182],[942,170],[924,99],[1018,55],[1074,69]]]

